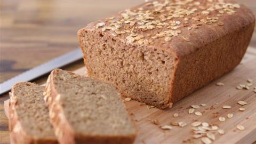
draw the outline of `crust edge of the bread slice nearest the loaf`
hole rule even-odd
[[[51,123],[53,124],[55,135],[57,135],[59,143],[133,143],[136,134],[113,137],[111,135],[92,136],[75,133],[63,113],[60,100],[56,99],[59,93],[55,90],[52,77],[55,73],[59,73],[59,70],[60,69],[53,70],[47,79],[44,99],[49,107]],[[73,74],[71,71],[68,71],[68,73]],[[51,116],[53,113],[54,116]]]

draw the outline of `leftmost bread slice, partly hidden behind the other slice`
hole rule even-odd
[[[13,143],[58,143],[43,91],[44,86],[29,82],[17,83],[12,87],[10,102],[5,102],[5,111],[9,114]]]

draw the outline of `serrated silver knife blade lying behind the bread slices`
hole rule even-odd
[[[15,83],[31,81],[39,76],[49,73],[55,68],[63,67],[71,62],[77,61],[82,58],[83,54],[80,48],[63,54],[60,57],[57,57],[46,63],[43,63],[42,65],[29,69],[24,73],[3,82],[2,84],[0,84],[0,94],[11,90],[11,87]]]

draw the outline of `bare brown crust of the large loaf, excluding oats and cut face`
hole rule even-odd
[[[226,2],[234,3],[234,1],[227,0]],[[137,9],[142,5],[136,6],[131,10]],[[161,40],[155,39],[154,44],[147,45],[149,49],[159,49],[169,52],[175,58],[174,73],[171,75],[169,94],[166,95],[169,101],[155,105],[150,101],[146,102],[148,105],[154,105],[158,108],[171,107],[172,103],[186,97],[204,85],[210,83],[214,79],[220,77],[228,71],[233,70],[239,62],[241,62],[247,46],[250,43],[252,33],[255,25],[255,17],[253,13],[244,5],[240,5],[236,9],[235,14],[224,15],[218,21],[224,23],[223,26],[205,25],[196,30],[187,30],[187,27],[181,28],[181,36],[173,37],[172,41],[161,43]],[[115,18],[121,17],[119,12],[113,15]],[[213,17],[208,15],[207,17]],[[112,16],[111,16],[112,17]],[[107,37],[114,38],[119,42],[126,43],[127,35],[113,36],[110,30],[101,31],[95,27],[97,23],[105,22],[106,18],[99,21],[89,23],[85,28],[80,29],[77,33],[79,44],[84,54],[84,63],[88,69],[88,74],[91,76],[93,66],[89,65],[85,48],[83,44],[83,36],[85,31],[93,31],[93,33],[103,33]],[[144,32],[144,34],[155,35],[157,29]],[[186,42],[183,37],[188,36],[189,42]],[[137,43],[131,45],[136,46]],[[143,44],[141,44],[143,45]],[[93,75],[93,77],[97,77]],[[102,79],[105,80],[106,79]],[[117,86],[118,87],[118,86]],[[123,95],[130,97],[124,91]],[[140,101],[140,99],[134,98]]]

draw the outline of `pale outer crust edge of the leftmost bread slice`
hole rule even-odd
[[[25,129],[23,129],[19,117],[16,112],[15,105],[17,104],[17,98],[15,95],[13,95],[13,92],[15,91],[15,88],[19,85],[23,84],[33,84],[29,82],[23,82],[23,83],[17,83],[12,87],[11,93],[10,93],[10,102],[6,103],[5,108],[7,115],[9,115],[9,130],[10,130],[10,139],[12,143],[58,143],[57,139],[55,138],[34,138],[31,135],[29,135]],[[9,106],[9,107],[8,107]],[[8,113],[9,111],[9,113]]]

